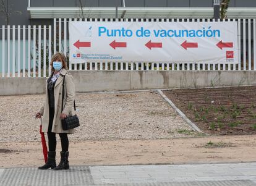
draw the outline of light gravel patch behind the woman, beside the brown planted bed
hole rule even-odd
[[[35,113],[45,95],[0,96],[0,142],[40,141]],[[155,91],[77,93],[80,127],[70,140],[186,137],[192,128]],[[59,139],[58,139],[59,140]]]

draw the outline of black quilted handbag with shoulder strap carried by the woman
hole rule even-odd
[[[62,82],[62,103],[61,103],[61,112],[63,111],[63,100],[64,100],[64,85],[65,85],[65,75]],[[74,100],[74,110],[75,110],[75,100]],[[77,114],[74,116],[69,116],[61,120],[62,129],[69,130],[74,129],[75,127],[79,127],[79,118]]]

